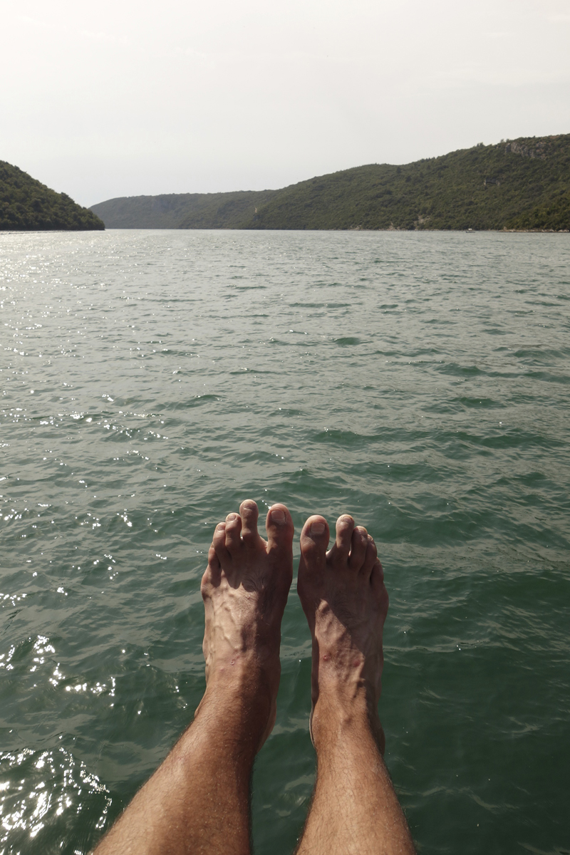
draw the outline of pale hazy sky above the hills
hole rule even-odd
[[[1,8],[0,160],[82,204],[570,133],[570,0]]]

